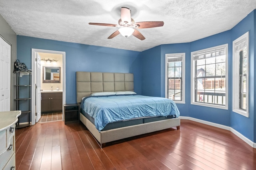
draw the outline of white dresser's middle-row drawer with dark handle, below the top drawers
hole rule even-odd
[[[1,160],[0,169],[2,169],[2,167],[8,162],[12,154],[14,154],[14,149],[15,149],[14,143],[15,141],[14,141],[14,135],[13,135],[10,139],[10,145],[8,146],[8,148],[2,154],[0,154],[0,160]]]

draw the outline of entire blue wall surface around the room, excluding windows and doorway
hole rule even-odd
[[[159,45],[143,52],[120,50],[77,43],[67,43],[25,36],[17,36],[17,58],[31,68],[31,48],[66,52],[66,102],[76,102],[76,71],[131,72],[134,73],[134,90],[147,96],[165,96],[165,54],[186,53],[185,104],[177,104],[182,116],[194,117],[230,126],[256,142],[256,10],[248,14],[231,30],[191,43]],[[249,41],[249,111],[250,117],[232,112],[232,41],[250,31]],[[191,59],[190,53],[218,45],[228,44],[228,110],[190,104]]]

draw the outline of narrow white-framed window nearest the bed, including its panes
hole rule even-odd
[[[185,53],[166,54],[166,98],[185,103]]]

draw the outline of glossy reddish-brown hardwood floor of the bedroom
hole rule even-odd
[[[181,120],[101,149],[82,123],[16,129],[16,170],[253,170],[256,149],[223,129]]]

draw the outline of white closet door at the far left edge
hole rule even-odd
[[[11,46],[0,37],[0,111],[10,111]]]

